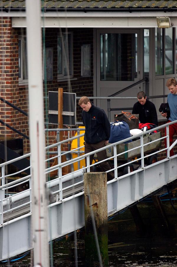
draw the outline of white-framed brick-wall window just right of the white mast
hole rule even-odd
[[[73,77],[73,47],[72,33],[63,33],[58,35],[58,79],[67,79]]]

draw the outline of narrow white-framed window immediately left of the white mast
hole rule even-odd
[[[27,83],[27,43],[26,37],[19,37],[19,83]]]

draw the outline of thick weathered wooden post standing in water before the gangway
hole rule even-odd
[[[107,174],[84,173],[86,266],[108,266]]]

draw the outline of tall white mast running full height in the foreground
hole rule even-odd
[[[47,200],[45,192],[45,131],[42,72],[41,1],[27,0],[27,60],[32,166],[32,229],[34,266],[48,267]]]

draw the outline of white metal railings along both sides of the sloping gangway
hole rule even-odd
[[[118,178],[118,170],[119,168],[122,168],[124,166],[127,166],[129,165],[130,163],[137,163],[137,161],[141,162],[140,163],[140,168],[144,168],[145,167],[145,162],[144,160],[147,158],[147,157],[150,157],[152,155],[156,155],[157,153],[160,153],[162,151],[166,151],[167,153],[167,158],[170,157],[170,150],[176,145],[177,143],[177,140],[175,140],[175,142],[170,146],[169,145],[169,125],[170,124],[173,124],[173,123],[177,123],[177,121],[173,121],[173,122],[170,122],[168,124],[164,124],[162,126],[159,126],[159,127],[156,127],[154,129],[151,129],[151,130],[148,130],[147,132],[142,132],[138,135],[135,135],[135,136],[132,136],[130,138],[127,138],[127,139],[124,139],[122,141],[119,141],[119,142],[116,142],[114,144],[109,144],[107,145],[106,147],[104,148],[100,148],[98,150],[95,150],[93,152],[90,152],[88,154],[83,154],[83,150],[81,150],[84,146],[80,146],[78,148],[75,148],[73,150],[70,150],[70,151],[66,151],[64,153],[61,153],[61,146],[62,144],[64,143],[68,143],[69,141],[71,142],[72,140],[75,140],[77,139],[78,142],[78,146],[80,144],[79,142],[79,138],[83,137],[84,134],[81,134],[81,135],[77,135],[75,137],[72,137],[70,139],[67,139],[67,140],[63,140],[61,142],[58,142],[58,143],[55,143],[53,145],[50,145],[50,146],[47,146],[45,148],[46,151],[50,151],[50,149],[53,149],[54,147],[57,148],[57,151],[56,151],[56,155],[53,156],[53,157],[50,157],[49,159],[46,159],[45,162],[50,162],[51,160],[57,158],[58,159],[58,164],[53,166],[53,167],[48,167],[46,168],[45,170],[45,175],[47,174],[50,174],[51,172],[57,170],[58,171],[58,175],[57,175],[57,178],[51,180],[51,181],[48,181],[47,182],[47,187],[46,188],[50,188],[52,187],[52,184],[55,183],[55,185],[59,185],[59,189],[57,188],[57,190],[55,190],[54,192],[50,193],[52,196],[56,195],[56,199],[57,201],[60,201],[62,202],[63,201],[63,185],[62,185],[62,182],[64,181],[67,181],[68,180],[71,180],[73,177],[77,177],[77,175],[81,175],[81,173],[83,174],[83,172],[85,172],[87,170],[87,172],[90,171],[90,167],[93,167],[93,166],[96,166],[98,164],[100,164],[101,162],[104,162],[106,160],[112,160],[114,162],[114,167],[112,167],[111,170],[108,170],[107,172],[110,172],[110,171],[114,171],[114,179],[108,183],[112,183],[114,182],[115,180],[119,179]],[[160,137],[158,139],[155,139],[153,141],[150,141],[148,143],[144,143],[144,138],[143,136],[150,133],[150,132],[153,132],[154,130],[160,130],[160,129],[163,129],[166,127],[166,135],[163,136],[163,137]],[[67,129],[65,129],[67,130]],[[83,129],[77,129],[77,132],[79,133],[80,130],[83,130]],[[152,136],[152,135],[151,135]],[[129,140],[133,140],[133,139],[137,139],[137,138],[140,138],[140,144],[135,147],[135,148],[131,148],[129,150],[126,150],[126,151],[123,151],[121,153],[118,153],[117,154],[117,145],[121,144],[121,143],[124,143],[126,141],[129,141]],[[167,140],[167,147],[166,148],[163,148],[163,149],[159,149],[158,151],[153,151],[152,153],[148,154],[148,155],[144,155],[144,148],[145,146],[149,146],[150,144],[154,143],[154,142],[157,142],[157,141],[160,141],[165,139]],[[95,162],[93,164],[89,164],[89,156],[92,155],[92,154],[95,154],[99,151],[102,151],[104,149],[111,149],[112,148],[112,155],[108,157],[108,159],[105,159],[101,162]],[[130,151],[133,151],[137,148],[140,148],[140,154],[139,156],[136,158],[136,159],[133,159],[130,161],[127,161],[127,162],[123,162],[123,164],[117,164],[117,160],[119,159],[119,157],[125,153],[128,153]],[[66,162],[61,162],[61,156],[64,156],[64,155],[67,155],[67,154],[73,154],[73,153],[76,153],[77,154],[77,157],[74,158],[74,159],[70,159]],[[81,155],[82,154],[82,155]],[[12,182],[9,182],[9,183],[5,183],[5,179],[7,177],[11,177],[11,176],[14,176],[14,175],[17,175],[17,174],[22,174],[22,172],[25,172],[25,170],[31,168],[31,166],[21,170],[21,171],[18,171],[18,172],[15,172],[13,174],[5,174],[5,170],[7,169],[6,166],[8,166],[9,164],[12,164],[13,162],[16,162],[16,161],[19,161],[21,159],[24,159],[24,158],[27,158],[27,157],[30,157],[30,153],[29,154],[26,154],[24,156],[20,156],[16,159],[13,159],[13,160],[10,160],[9,162],[4,162],[2,164],[0,164],[0,168],[1,168],[1,177],[0,177],[0,180],[1,180],[1,186],[0,186],[0,224],[3,225],[4,224],[4,215],[6,215],[7,213],[11,213],[11,212],[14,212],[16,210],[18,210],[19,208],[22,208],[22,207],[25,207],[25,206],[30,206],[30,211],[29,212],[32,212],[32,175],[26,175],[24,177],[21,177],[21,178],[18,178],[17,180],[14,180]],[[80,164],[78,164],[78,162],[80,162],[81,160],[85,159],[86,158],[86,162],[87,162],[87,166],[86,167],[80,167]],[[69,166],[69,165],[72,165],[74,163],[77,163],[78,165],[78,168],[77,170],[73,171],[72,172],[72,175],[71,173],[68,173],[68,174],[65,174],[65,175],[62,175],[62,168],[63,167],[66,167],[66,166]],[[158,164],[158,162],[156,163]],[[136,171],[135,171],[136,172]],[[127,175],[129,174],[125,174],[123,177],[126,177]],[[122,178],[122,176],[121,176]],[[14,187],[17,187],[23,183],[28,183],[29,182],[29,188],[27,190],[24,190],[22,192],[19,192],[19,193],[16,193],[16,194],[13,194],[13,195],[7,195],[5,194],[5,190],[9,190],[11,188],[14,188]],[[64,187],[65,190],[68,190],[68,189],[72,189],[72,188],[75,188],[77,187],[78,185],[81,185],[83,183],[83,180],[82,181],[79,181],[79,182],[76,182],[76,183],[73,183],[71,185],[68,185],[66,187]],[[80,194],[80,193],[79,193]],[[7,195],[7,197],[6,197]],[[27,198],[28,196],[28,198]],[[13,208],[10,208],[10,205],[9,203],[17,200],[17,199],[22,199],[23,197],[25,197],[26,199],[26,202],[23,203],[23,204],[20,204],[18,205],[17,207],[13,207]],[[75,196],[70,196],[69,199],[71,199],[71,197],[75,197]],[[66,201],[66,199],[64,200]],[[6,208],[6,210],[4,210],[3,206],[7,207],[9,206],[9,209]]]

